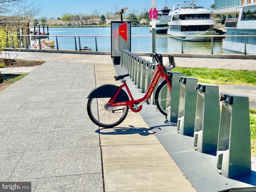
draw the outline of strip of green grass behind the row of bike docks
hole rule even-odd
[[[197,78],[201,83],[256,85],[256,71],[180,67],[176,67],[173,71]]]

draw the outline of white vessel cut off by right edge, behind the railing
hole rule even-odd
[[[240,6],[238,10],[238,18],[226,19],[227,36],[222,41],[222,48],[231,52],[256,54],[256,3]]]

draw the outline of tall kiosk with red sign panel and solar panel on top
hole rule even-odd
[[[131,22],[123,22],[122,14],[128,7],[115,14],[121,15],[121,21],[111,21],[111,58],[114,65],[119,65],[122,50],[131,51]]]

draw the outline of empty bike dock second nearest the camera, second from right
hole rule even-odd
[[[216,155],[220,125],[219,87],[196,83],[197,102],[193,148]]]

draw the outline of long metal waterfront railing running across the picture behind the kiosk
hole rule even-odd
[[[82,43],[86,43],[89,42],[95,45],[95,47],[93,47],[93,50],[96,51],[110,51],[111,50],[111,36],[93,36],[93,35],[86,35],[86,36],[74,36],[74,35],[20,35],[18,36],[18,38],[20,39],[20,48],[25,48],[25,49],[46,49],[46,48],[50,48],[50,49],[56,49],[56,50],[82,50]],[[168,47],[166,45],[166,43],[173,43],[173,46],[175,48],[177,48],[175,53],[194,53],[195,50],[197,48],[202,48],[203,50],[206,51],[204,53],[208,53],[208,54],[219,54],[219,53],[223,53],[222,48],[219,48],[217,51],[214,52],[214,47],[216,46],[216,44],[218,44],[219,47],[221,47],[222,45],[222,40],[228,37],[240,37],[240,42],[234,42],[234,44],[238,44],[240,43],[240,46],[243,46],[244,48],[241,49],[240,54],[247,54],[246,50],[248,50],[248,45],[252,45],[253,46],[253,52],[254,54],[256,54],[256,34],[255,35],[201,35],[201,37],[206,37],[207,40],[203,40],[203,41],[197,41],[197,42],[189,42],[186,41],[185,38],[186,37],[196,37],[196,35],[190,35],[190,36],[169,36],[169,35],[156,35],[156,51],[157,52],[166,52],[166,53],[170,53],[173,51],[168,50]],[[138,42],[140,40],[137,40],[136,38],[149,38],[149,40],[146,39],[147,44],[145,44],[145,47],[148,48],[149,47],[149,42],[152,39],[152,36],[131,36],[131,43],[133,42]],[[164,43],[161,44],[158,43],[158,38],[168,38],[167,41],[165,41]],[[170,42],[170,39],[173,38],[179,38],[180,40],[176,40],[175,42]],[[12,43],[11,43],[12,37],[9,36],[9,48],[13,48],[12,47]],[[100,50],[98,47],[99,42],[97,43],[97,40],[100,40],[100,45],[102,43],[105,43],[105,50]],[[39,44],[39,42],[41,42]],[[64,42],[64,43],[63,43]],[[81,43],[82,42],[82,43]],[[140,42],[140,44],[144,43],[144,40],[142,42]],[[69,44],[70,46],[72,46],[72,48],[63,48],[63,44]],[[61,47],[60,47],[61,45]],[[152,45],[152,44],[151,44]],[[86,44],[86,46],[88,46],[88,44]],[[250,48],[252,48],[252,46],[250,46]],[[90,46],[88,46],[90,47]],[[145,50],[140,50],[141,52],[147,52]],[[159,48],[164,48],[161,50],[158,50]],[[107,49],[107,50],[106,50]],[[164,51],[163,51],[164,50]],[[227,49],[227,50],[232,50],[232,48]],[[134,51],[134,50],[133,50]],[[137,51],[136,52],[140,52]]]

